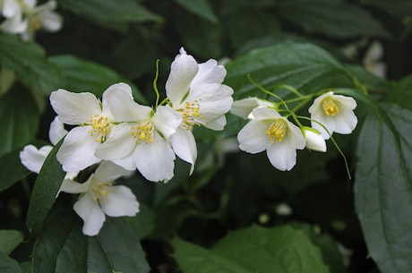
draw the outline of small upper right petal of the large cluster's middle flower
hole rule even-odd
[[[151,118],[156,129],[168,139],[182,123],[182,117],[170,107],[160,106]]]

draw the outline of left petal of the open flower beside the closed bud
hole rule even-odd
[[[256,154],[270,146],[270,138],[266,131],[270,126],[271,121],[262,122],[253,120],[245,125],[237,134],[239,141],[239,149],[245,150],[248,153]]]

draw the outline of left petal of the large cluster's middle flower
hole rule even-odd
[[[133,152],[136,142],[131,132],[131,124],[118,124],[112,127],[110,137],[96,148],[95,156],[100,159],[115,160]]]

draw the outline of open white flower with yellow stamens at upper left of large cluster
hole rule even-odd
[[[50,103],[64,124],[79,125],[67,133],[57,152],[57,159],[66,172],[78,172],[100,161],[94,155],[95,149],[107,141],[114,118],[107,106],[107,94],[112,91],[132,94],[125,83],[108,87],[100,102],[91,93],[72,93],[56,90],[50,95]]]

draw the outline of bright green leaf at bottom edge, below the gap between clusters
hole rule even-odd
[[[322,253],[290,226],[252,226],[229,233],[211,250],[175,239],[175,258],[185,273],[329,272]]]

